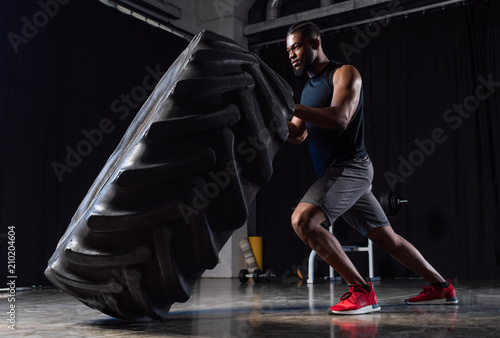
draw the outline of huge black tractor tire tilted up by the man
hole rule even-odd
[[[108,159],[46,277],[110,316],[165,319],[247,220],[293,109],[256,55],[198,34]]]

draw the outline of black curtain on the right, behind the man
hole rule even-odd
[[[323,36],[326,54],[363,77],[373,191],[392,188],[409,200],[392,226],[451,278],[500,275],[499,14],[498,1],[479,0]],[[280,43],[259,54],[298,100],[304,79],[293,77],[285,49]],[[290,226],[314,179],[308,156],[306,145],[286,145],[257,200],[264,260],[280,274],[309,253]],[[346,228],[336,225],[341,242],[350,240]],[[415,276],[378,249],[375,274]]]

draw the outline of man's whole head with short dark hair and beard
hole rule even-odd
[[[286,50],[295,75],[304,75],[321,50],[319,27],[311,21],[298,22],[288,29]]]

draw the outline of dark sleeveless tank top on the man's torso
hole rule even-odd
[[[331,61],[319,74],[309,78],[302,90],[300,103],[329,107],[333,96],[333,74],[343,64]],[[345,130],[326,129],[306,122],[309,149],[316,174],[322,176],[333,161],[347,161],[366,156],[364,142],[363,88],[356,112]]]

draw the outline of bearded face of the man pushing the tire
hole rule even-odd
[[[304,75],[314,62],[314,49],[308,39],[300,33],[290,34],[286,37],[286,50],[295,75]]]

